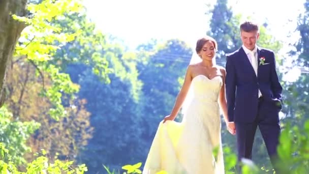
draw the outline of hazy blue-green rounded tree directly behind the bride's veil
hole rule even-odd
[[[159,122],[173,107],[181,86],[179,81],[183,79],[192,55],[191,48],[176,39],[152,47],[157,47],[157,50],[140,50],[137,55],[141,60],[138,70],[139,79],[143,82],[144,124],[147,128],[143,136],[149,147],[149,140],[153,138]]]

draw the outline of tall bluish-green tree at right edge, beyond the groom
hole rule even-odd
[[[292,67],[309,67],[309,1],[304,3],[304,13],[298,16],[296,31],[300,39],[294,44],[290,56],[297,57]],[[291,67],[290,67],[291,68]],[[287,120],[293,124],[302,125],[304,120],[309,119],[309,76],[307,70],[295,82],[287,82],[285,85],[285,113]]]

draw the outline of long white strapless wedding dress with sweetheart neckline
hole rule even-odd
[[[192,79],[194,97],[182,122],[160,123],[143,174],[224,173],[218,103],[222,84],[221,76],[208,79],[198,75]]]

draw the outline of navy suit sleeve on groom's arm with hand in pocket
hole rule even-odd
[[[272,90],[274,97],[276,99],[281,100],[282,86],[280,84],[280,81],[279,81],[279,78],[276,72],[276,61],[275,61],[275,56],[273,52],[271,52],[271,57],[273,59],[272,64],[271,64],[271,70],[270,70],[271,90]]]

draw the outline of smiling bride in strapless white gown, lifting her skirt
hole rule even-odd
[[[208,36],[197,41],[200,61],[188,66],[175,105],[159,124],[143,168],[144,174],[162,170],[170,174],[224,173],[219,106],[228,124],[226,71],[215,65],[217,47],[217,42]],[[184,104],[191,92],[192,99]],[[183,119],[177,123],[173,120],[181,106]]]

